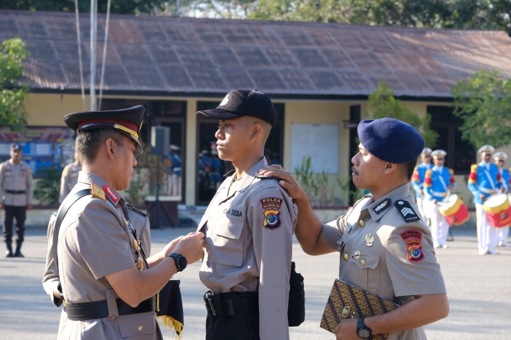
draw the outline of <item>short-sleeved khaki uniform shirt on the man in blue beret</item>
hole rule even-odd
[[[414,295],[445,294],[430,230],[423,221],[412,221],[420,217],[417,211],[406,183],[376,202],[360,199],[345,216],[323,226],[325,239],[340,252],[339,279],[401,305]],[[389,339],[426,336],[415,328]]]

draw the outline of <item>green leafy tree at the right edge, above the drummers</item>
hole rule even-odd
[[[499,71],[480,70],[451,89],[454,114],[463,119],[462,138],[474,148],[499,148],[511,141],[511,79]]]

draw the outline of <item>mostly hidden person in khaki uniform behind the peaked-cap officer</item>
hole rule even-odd
[[[80,166],[81,168],[81,166]],[[144,212],[128,205],[128,216],[133,228],[137,231],[137,235],[140,235],[141,241],[140,246],[144,250],[147,256],[151,254],[151,228],[149,227],[148,215]],[[60,307],[64,301],[62,294],[62,288],[59,278],[59,272],[57,266],[55,266],[55,259],[53,258],[53,230],[55,227],[55,221],[57,219],[57,212],[54,212],[50,217],[48,223],[48,252],[46,253],[46,270],[43,277],[43,288],[46,294],[50,296],[50,299],[55,307]],[[62,310],[61,321],[59,323],[59,333],[57,339],[62,338],[62,332],[66,326],[66,320],[68,316],[66,311]]]

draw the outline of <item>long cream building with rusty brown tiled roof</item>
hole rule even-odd
[[[98,19],[97,90],[106,18]],[[90,15],[80,14],[79,23],[88,93]],[[0,40],[12,37],[30,50],[20,79],[32,86],[29,125],[64,126],[64,114],[83,108],[75,14],[0,10]],[[146,105],[146,142],[151,126],[171,128],[172,143],[182,148],[184,203],[195,205],[209,197],[196,181],[197,154],[215,141],[215,125],[197,121],[195,112],[215,106],[233,88],[258,88],[276,103],[279,124],[269,148],[285,168],[292,170],[309,152],[318,170],[347,176],[356,137],[349,121],[367,117],[367,97],[385,81],[414,112],[432,114],[438,147],[451,157],[447,165],[463,174],[475,153],[457,131],[450,87],[481,68],[511,77],[505,32],[116,14],[110,17],[102,109]],[[304,129],[302,139],[293,135]],[[334,142],[320,150],[324,141],[316,137],[327,131]]]

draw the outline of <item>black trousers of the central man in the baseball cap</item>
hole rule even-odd
[[[259,313],[220,317],[208,314],[206,340],[259,340]]]

